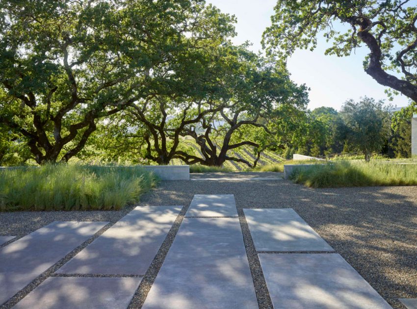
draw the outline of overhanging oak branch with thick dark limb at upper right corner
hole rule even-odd
[[[415,4],[415,3],[414,3]],[[317,36],[347,56],[365,45],[365,72],[417,102],[417,6],[410,0],[278,0],[263,45],[281,59],[297,48],[313,50]],[[341,23],[342,27],[338,24]]]

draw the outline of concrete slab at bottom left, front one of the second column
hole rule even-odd
[[[126,309],[141,278],[49,277],[15,309]]]

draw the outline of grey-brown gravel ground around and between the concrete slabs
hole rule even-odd
[[[225,177],[225,173],[221,173],[220,177]],[[233,173],[230,177],[238,177],[238,174]],[[146,272],[130,309],[142,306],[194,194],[235,195],[260,308],[271,308],[271,300],[241,208],[293,208],[393,308],[405,308],[397,298],[417,298],[417,187],[312,189],[288,180],[162,181],[159,187],[142,197],[139,205],[184,207]],[[120,211],[0,213],[0,235],[22,237],[57,220],[109,221],[113,224],[132,208],[129,206]],[[10,308],[91,241],[83,243],[52,266],[6,304],[10,306],[3,307]]]

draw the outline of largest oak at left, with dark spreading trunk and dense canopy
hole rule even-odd
[[[0,123],[38,163],[68,161],[131,103],[192,91],[193,44],[234,33],[233,17],[200,0],[1,3]]]

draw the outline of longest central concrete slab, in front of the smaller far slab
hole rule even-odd
[[[258,308],[238,218],[184,218],[142,309]]]

